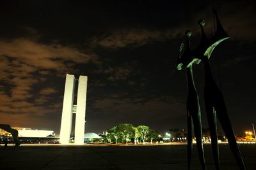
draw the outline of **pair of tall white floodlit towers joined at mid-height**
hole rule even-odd
[[[74,104],[76,81],[78,81],[77,100],[76,100],[76,104]],[[83,145],[84,143],[86,92],[87,92],[87,76],[79,76],[79,80],[76,80],[74,75],[67,74],[64,98],[63,98],[61,127],[60,127],[60,143],[62,145],[66,145],[70,142],[73,113],[76,113],[75,131],[74,131],[75,145]]]

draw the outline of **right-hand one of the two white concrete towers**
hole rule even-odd
[[[75,145],[84,143],[84,124],[86,111],[87,76],[79,76],[75,125]]]

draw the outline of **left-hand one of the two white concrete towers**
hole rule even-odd
[[[67,74],[60,127],[60,143],[63,145],[68,144],[70,140],[75,81],[74,75]]]

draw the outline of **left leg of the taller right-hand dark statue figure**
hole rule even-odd
[[[219,158],[219,147],[218,147],[218,131],[217,131],[216,113],[214,111],[212,104],[209,104],[207,100],[205,100],[205,109],[207,113],[207,120],[208,120],[210,134],[211,134],[211,145],[212,145],[214,163],[215,163],[216,169],[219,170],[220,158]]]

